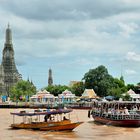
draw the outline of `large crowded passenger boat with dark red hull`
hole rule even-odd
[[[88,116],[92,115],[95,122],[105,125],[122,127],[140,126],[140,102],[110,101],[94,102]]]

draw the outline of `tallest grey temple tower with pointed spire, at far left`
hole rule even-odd
[[[10,88],[21,79],[22,76],[19,74],[15,64],[12,31],[8,24],[6,29],[2,63],[0,65],[0,94],[9,96]]]

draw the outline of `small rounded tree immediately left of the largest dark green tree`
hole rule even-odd
[[[81,96],[82,93],[84,92],[84,83],[83,82],[78,82],[75,83],[72,87],[71,87],[71,91],[73,94],[75,94],[76,96]]]

